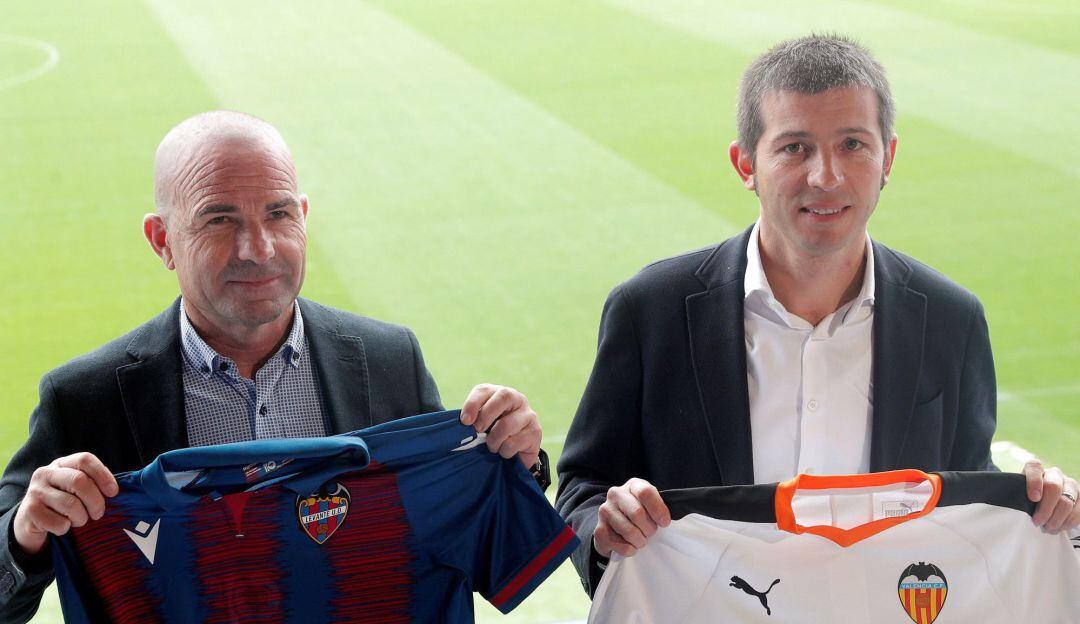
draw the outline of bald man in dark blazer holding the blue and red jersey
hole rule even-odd
[[[187,446],[442,409],[411,331],[297,297],[309,204],[270,124],[228,111],[184,121],[158,148],[154,201],[143,230],[180,297],[41,380],[29,439],[0,479],[0,621],[33,614],[53,578],[49,534],[100,518],[116,472]],[[543,480],[540,425],[522,393],[477,385],[461,420],[490,428],[491,451]]]

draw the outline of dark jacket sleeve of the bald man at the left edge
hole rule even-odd
[[[33,471],[63,455],[59,406],[50,376],[42,378],[39,394],[38,407],[30,415],[30,436],[0,477],[0,622],[28,621],[53,581],[49,546],[28,556],[18,551],[13,532],[15,513]]]

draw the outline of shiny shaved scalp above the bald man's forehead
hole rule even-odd
[[[168,131],[153,160],[153,200],[167,218],[190,201],[205,163],[243,153],[269,154],[296,191],[293,155],[278,128],[261,119],[231,110],[212,110],[188,118]]]

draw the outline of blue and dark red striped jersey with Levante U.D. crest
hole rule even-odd
[[[54,539],[68,622],[472,622],[578,544],[458,411],[166,452]]]

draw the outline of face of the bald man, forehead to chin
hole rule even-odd
[[[174,180],[171,258],[162,257],[193,320],[251,329],[288,314],[303,283],[308,211],[288,152],[252,138],[220,140]]]

